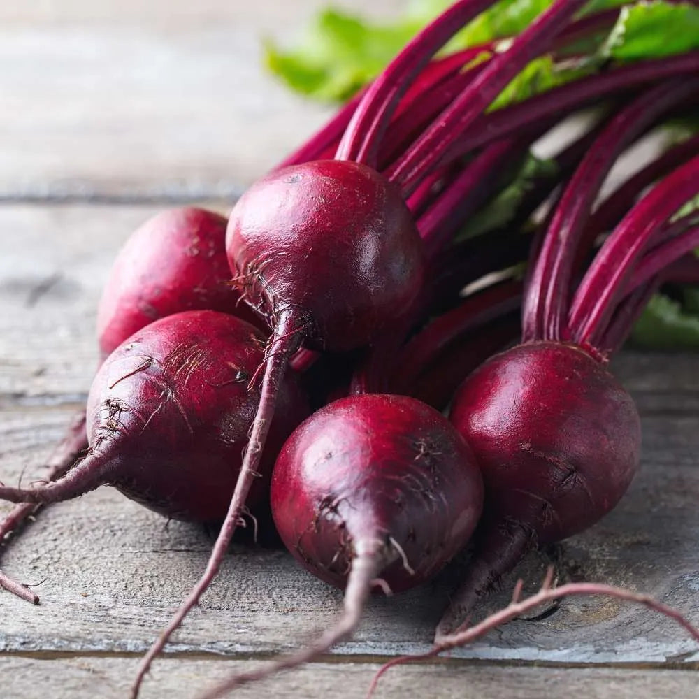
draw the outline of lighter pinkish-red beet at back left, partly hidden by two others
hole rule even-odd
[[[103,356],[136,331],[173,313],[219,310],[247,320],[226,257],[227,219],[199,208],[159,213],[117,255],[97,313]]]

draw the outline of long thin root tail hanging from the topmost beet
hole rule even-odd
[[[199,598],[206,592],[219,571],[226,555],[226,549],[228,549],[233,533],[235,533],[243,515],[247,494],[250,492],[254,479],[259,475],[257,469],[274,417],[278,387],[284,379],[284,373],[286,373],[291,355],[296,352],[305,336],[305,329],[305,319],[299,319],[298,311],[293,309],[284,310],[278,315],[274,335],[267,347],[264,364],[262,365],[265,369],[257,415],[255,415],[252,423],[250,440],[245,450],[243,465],[240,466],[240,475],[238,475],[236,489],[233,491],[226,519],[224,519],[221,531],[219,531],[219,535],[214,543],[203,575],[199,578],[199,581],[192,588],[182,605],[180,605],[170,624],[161,631],[157,640],[155,640],[147,654],[143,656],[140,665],[138,665],[138,673],[134,684],[131,686],[131,699],[136,699],[140,686],[143,684],[143,679],[148,670],[150,670],[150,665],[164,649],[171,635],[180,627],[182,621],[189,614],[189,610],[199,604]]]

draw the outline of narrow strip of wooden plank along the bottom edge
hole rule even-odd
[[[143,685],[143,699],[194,696],[196,689],[217,682],[227,673],[252,670],[259,661],[172,659],[156,664]],[[123,699],[135,661],[130,658],[68,658],[62,660],[0,656],[3,697],[34,699]],[[264,684],[242,687],[234,695],[257,699],[264,694],[280,699],[321,699],[343,696],[361,699],[378,665],[315,663],[273,677]],[[690,670],[618,670],[612,668],[513,668],[443,663],[403,665],[382,679],[376,699],[435,697],[435,699],[635,699],[696,697],[696,672]],[[37,688],[41,688],[41,694]]]

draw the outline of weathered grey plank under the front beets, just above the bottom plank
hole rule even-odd
[[[67,421],[69,410],[46,408],[41,419],[24,408],[0,412],[3,478],[13,482],[28,463],[40,463],[57,435],[59,416]],[[553,560],[562,578],[647,591],[699,623],[695,422],[647,417],[642,470],[617,509],[553,554],[531,556],[517,575],[535,586]],[[28,469],[25,478],[35,471]],[[166,529],[157,515],[108,488],[56,505],[3,556],[11,574],[45,582],[38,609],[0,594],[0,649],[143,649],[203,569],[209,547],[201,528],[173,522]],[[435,584],[372,600],[355,640],[337,652],[423,651],[458,575],[455,565]],[[484,611],[507,602],[514,579]],[[289,647],[296,634],[329,624],[339,601],[337,591],[298,569],[288,554],[237,547],[172,648],[236,656]],[[557,663],[699,661],[696,644],[669,621],[601,599],[567,600],[545,620],[513,622],[455,654]]]

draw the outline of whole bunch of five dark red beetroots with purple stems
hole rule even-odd
[[[438,637],[460,630],[531,547],[592,526],[628,488],[640,424],[606,364],[656,289],[699,278],[699,140],[600,191],[637,139],[696,112],[699,53],[600,72],[579,46],[624,10],[558,0],[506,45],[434,57],[491,4],[454,3],[229,219],[166,212],[117,259],[85,417],[48,482],[0,487],[19,503],[0,538],[102,484],[222,524],[134,696],[247,519],[271,510],[345,609],[297,656],[210,696],[322,653],[373,588],[430,579],[475,533]],[[540,56],[565,84],[493,109]],[[523,180],[532,144],[589,106],[596,119]],[[513,183],[507,217],[475,225]]]

